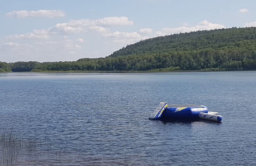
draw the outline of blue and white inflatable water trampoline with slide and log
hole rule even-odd
[[[195,120],[198,118],[220,122],[222,117],[218,112],[208,112],[203,105],[168,105],[160,102],[155,111],[148,117],[154,120]]]

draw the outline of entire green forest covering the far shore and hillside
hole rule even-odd
[[[0,62],[0,72],[256,70],[256,27],[204,30],[141,40],[102,58]]]

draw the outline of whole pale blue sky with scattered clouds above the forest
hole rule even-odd
[[[8,0],[0,2],[0,61],[106,57],[141,39],[256,26],[254,0]]]

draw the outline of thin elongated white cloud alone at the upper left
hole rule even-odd
[[[55,18],[55,17],[64,17],[65,11],[61,10],[38,10],[38,11],[11,11],[9,13],[5,14],[6,16],[14,16],[18,18],[24,18],[24,17],[49,17],[49,18]]]

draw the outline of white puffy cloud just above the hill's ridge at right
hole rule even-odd
[[[170,34],[178,34],[178,33],[184,33],[184,32],[194,32],[194,31],[202,31],[202,30],[211,30],[211,29],[221,29],[225,28],[224,25],[221,24],[214,24],[211,22],[208,22],[207,20],[204,20],[200,22],[196,26],[182,26],[178,28],[163,28],[161,31],[157,31],[156,35],[158,36],[164,36],[164,35],[170,35]]]

